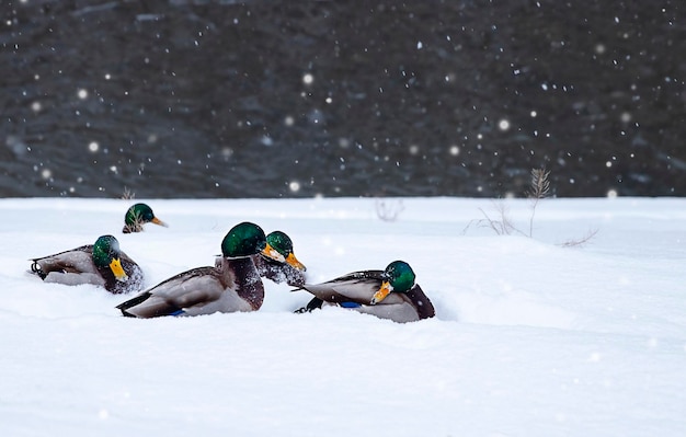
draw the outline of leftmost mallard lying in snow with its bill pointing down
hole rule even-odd
[[[139,291],[142,271],[119,250],[113,235],[102,235],[94,244],[31,260],[31,272],[46,283],[93,284],[113,294]]]

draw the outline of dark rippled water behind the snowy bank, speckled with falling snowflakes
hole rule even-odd
[[[5,1],[0,196],[683,196],[682,3]]]

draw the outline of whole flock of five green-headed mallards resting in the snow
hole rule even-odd
[[[146,223],[167,227],[148,205],[135,204],[126,211],[122,231],[140,232]],[[142,269],[113,235],[31,261],[31,273],[46,283],[92,284],[112,294],[138,292],[116,307],[132,318],[256,311],[264,300],[262,278],[313,295],[298,313],[338,306],[400,323],[435,315],[408,263],[393,261],[384,271],[354,272],[325,283],[306,284],[306,267],[295,256],[290,238],[281,231],[265,235],[262,228],[248,221],[229,230],[214,266],[192,268],[146,290]]]

